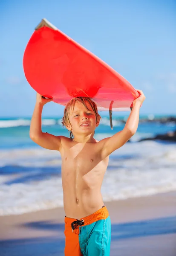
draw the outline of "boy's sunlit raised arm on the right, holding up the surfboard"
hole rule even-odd
[[[141,90],[138,90],[138,93],[140,96],[133,102],[133,109],[127,119],[124,129],[114,134],[112,137],[104,139],[104,145],[101,149],[101,159],[106,158],[113,151],[123,146],[136,133],[139,122],[139,110],[145,99]]]

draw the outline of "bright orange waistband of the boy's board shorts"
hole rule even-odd
[[[109,212],[107,210],[107,207],[103,207],[99,209],[98,211],[92,213],[91,215],[88,215],[84,218],[81,218],[80,220],[84,220],[84,225],[92,224],[95,221],[104,220],[109,216]],[[73,221],[75,221],[75,218],[69,218],[65,216],[65,224],[71,225]]]

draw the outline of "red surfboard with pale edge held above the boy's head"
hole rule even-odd
[[[139,96],[112,67],[46,19],[26,46],[23,69],[32,88],[61,105],[82,96],[92,98],[100,111],[127,111]]]

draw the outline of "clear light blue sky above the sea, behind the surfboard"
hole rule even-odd
[[[176,114],[176,1],[1,0],[0,116],[32,116],[23,53],[43,17],[143,90],[141,114]],[[43,116],[63,109],[50,102]]]

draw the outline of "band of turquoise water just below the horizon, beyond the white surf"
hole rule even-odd
[[[160,118],[162,116],[156,116]],[[147,118],[147,116],[140,116],[140,119]],[[124,120],[127,116],[116,116],[113,118],[113,130],[110,128],[109,117],[102,116],[102,121],[95,130],[95,137],[110,137],[113,134],[121,131],[124,128]],[[29,138],[29,125],[31,118],[1,118],[0,119],[0,148],[30,148],[38,147]],[[56,136],[63,135],[69,137],[69,132],[65,127],[62,127],[60,118],[43,118],[42,131],[54,134]],[[163,134],[167,131],[174,131],[176,123],[159,123],[159,122],[139,122],[137,137],[138,139],[147,136],[153,137],[156,134]]]

